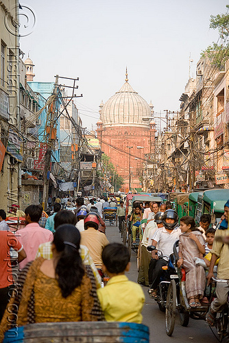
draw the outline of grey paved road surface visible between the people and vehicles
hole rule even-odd
[[[121,243],[121,234],[119,233],[118,228],[116,226],[108,226],[107,224],[106,227],[106,235],[110,243]],[[132,252],[131,263],[130,272],[127,273],[127,276],[131,281],[136,282],[138,273],[136,271],[136,254],[134,252]],[[217,342],[204,320],[191,319],[188,327],[182,327],[180,325],[178,314],[173,335],[172,337],[168,337],[165,332],[165,314],[158,309],[157,303],[152,298],[149,298],[147,289],[147,287],[143,287],[143,291],[145,293],[143,324],[147,325],[150,329],[150,343]]]

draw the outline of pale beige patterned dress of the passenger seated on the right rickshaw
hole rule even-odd
[[[202,233],[200,231],[193,231],[192,233],[197,236],[200,244],[204,246]],[[202,265],[195,265],[194,258],[200,257],[200,251],[195,241],[189,237],[189,233],[180,235],[179,249],[184,260],[183,268],[186,272],[185,288],[187,297],[191,298],[198,295],[202,298],[206,284],[205,272]]]

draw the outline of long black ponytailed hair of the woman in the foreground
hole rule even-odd
[[[80,257],[80,232],[71,224],[60,225],[53,244],[60,252],[56,265],[56,279],[63,298],[67,298],[82,283],[84,266]]]

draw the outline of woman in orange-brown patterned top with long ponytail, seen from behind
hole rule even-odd
[[[25,324],[104,320],[93,272],[82,264],[79,249],[79,231],[71,224],[60,225],[53,259],[38,257],[19,275],[1,321],[0,342],[5,331]]]

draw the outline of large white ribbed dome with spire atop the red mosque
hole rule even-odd
[[[138,124],[148,127],[147,118],[152,118],[152,110],[145,99],[128,83],[127,70],[125,75],[125,84],[101,107],[100,119],[104,126]]]

